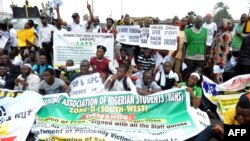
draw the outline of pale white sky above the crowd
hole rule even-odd
[[[3,5],[10,5],[11,2],[18,6],[23,6],[25,0],[2,0]],[[52,0],[50,0],[52,1]],[[88,13],[87,0],[61,0],[63,5],[60,8],[61,17],[66,21],[72,20],[71,15],[78,12],[80,16]],[[104,22],[107,17],[119,19],[123,14],[131,17],[152,16],[159,17],[160,20],[178,16],[182,18],[189,11],[194,11],[197,15],[205,16],[207,13],[213,14],[216,3],[222,1],[229,6],[229,13],[234,19],[239,19],[242,13],[248,13],[250,0],[88,0],[94,8],[94,16],[99,16]],[[31,6],[38,6],[46,0],[29,0]],[[3,10],[11,12],[9,6],[4,6]]]

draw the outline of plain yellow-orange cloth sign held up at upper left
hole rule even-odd
[[[34,42],[35,34],[36,34],[34,28],[21,29],[21,30],[16,31],[16,33],[17,33],[18,47],[27,46],[26,40],[30,41],[31,43]]]

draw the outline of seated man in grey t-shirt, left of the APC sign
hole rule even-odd
[[[42,95],[69,93],[69,86],[59,78],[54,76],[54,70],[47,68],[44,71],[44,80],[40,84],[39,92]]]

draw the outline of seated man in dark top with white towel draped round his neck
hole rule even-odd
[[[172,64],[165,62],[163,64],[163,70],[156,73],[155,81],[162,90],[171,89],[176,83],[179,82],[178,75],[171,70]]]

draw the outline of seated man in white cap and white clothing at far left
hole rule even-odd
[[[15,90],[31,90],[38,92],[40,87],[39,76],[32,74],[32,67],[30,64],[23,64],[22,74],[15,80]]]

